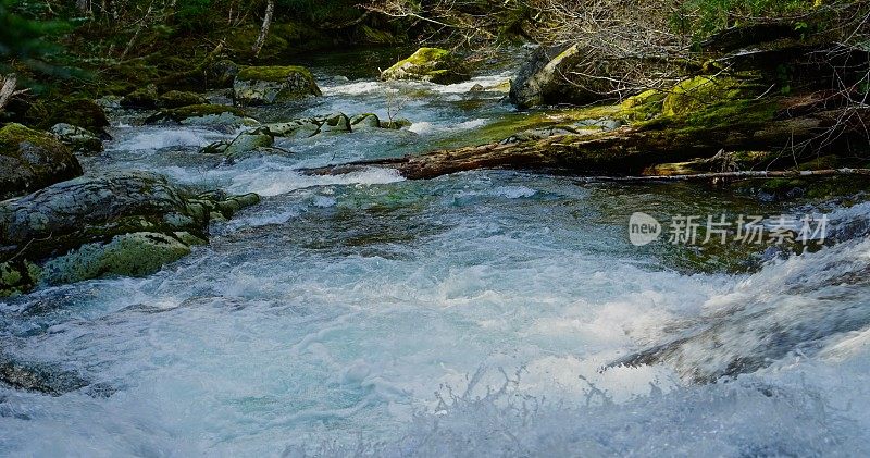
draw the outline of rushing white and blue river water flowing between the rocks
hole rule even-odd
[[[0,454],[870,453],[866,236],[754,274],[693,273],[680,253],[631,245],[629,215],[787,209],[504,171],[306,176],[298,169],[473,144],[522,116],[498,94],[469,92],[507,73],[385,85],[355,74],[359,60],[332,62],[312,64],[323,98],[258,114],[398,108],[413,125],[283,140],[294,154],[222,164],[197,149],[232,133],[119,117],[105,153],[85,161],[91,173],[151,170],[263,202],[150,277],[0,302],[8,351],[102,387],[0,387]],[[870,209],[834,214],[866,221]],[[602,370],[684,335],[699,343],[663,364]],[[766,362],[713,384],[681,376],[734,359]]]

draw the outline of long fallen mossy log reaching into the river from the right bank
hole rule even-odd
[[[488,144],[423,156],[355,162],[310,170],[340,174],[365,166],[397,170],[411,180],[434,178],[476,169],[545,169],[580,175],[639,174],[660,163],[710,158],[722,149],[783,150],[800,143],[807,148],[844,148],[849,140],[867,145],[860,122],[843,124],[843,111],[830,110],[784,117],[781,104],[721,107],[716,115],[661,119],[594,135],[561,135],[539,140]],[[870,110],[856,111],[863,123]],[[854,126],[853,126],[854,124]],[[837,131],[836,143],[824,143]],[[791,152],[790,152],[791,154]]]

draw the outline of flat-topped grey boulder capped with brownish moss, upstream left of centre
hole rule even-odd
[[[271,104],[320,96],[314,76],[302,66],[248,66],[233,83],[237,104]]]

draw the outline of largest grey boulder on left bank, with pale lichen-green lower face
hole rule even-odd
[[[257,195],[192,195],[150,173],[83,176],[0,202],[0,295],[107,275],[148,275],[208,240]]]

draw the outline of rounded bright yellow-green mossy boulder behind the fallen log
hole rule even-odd
[[[662,114],[689,115],[717,103],[746,98],[750,89],[746,83],[730,76],[695,76],[680,82],[668,92]]]

